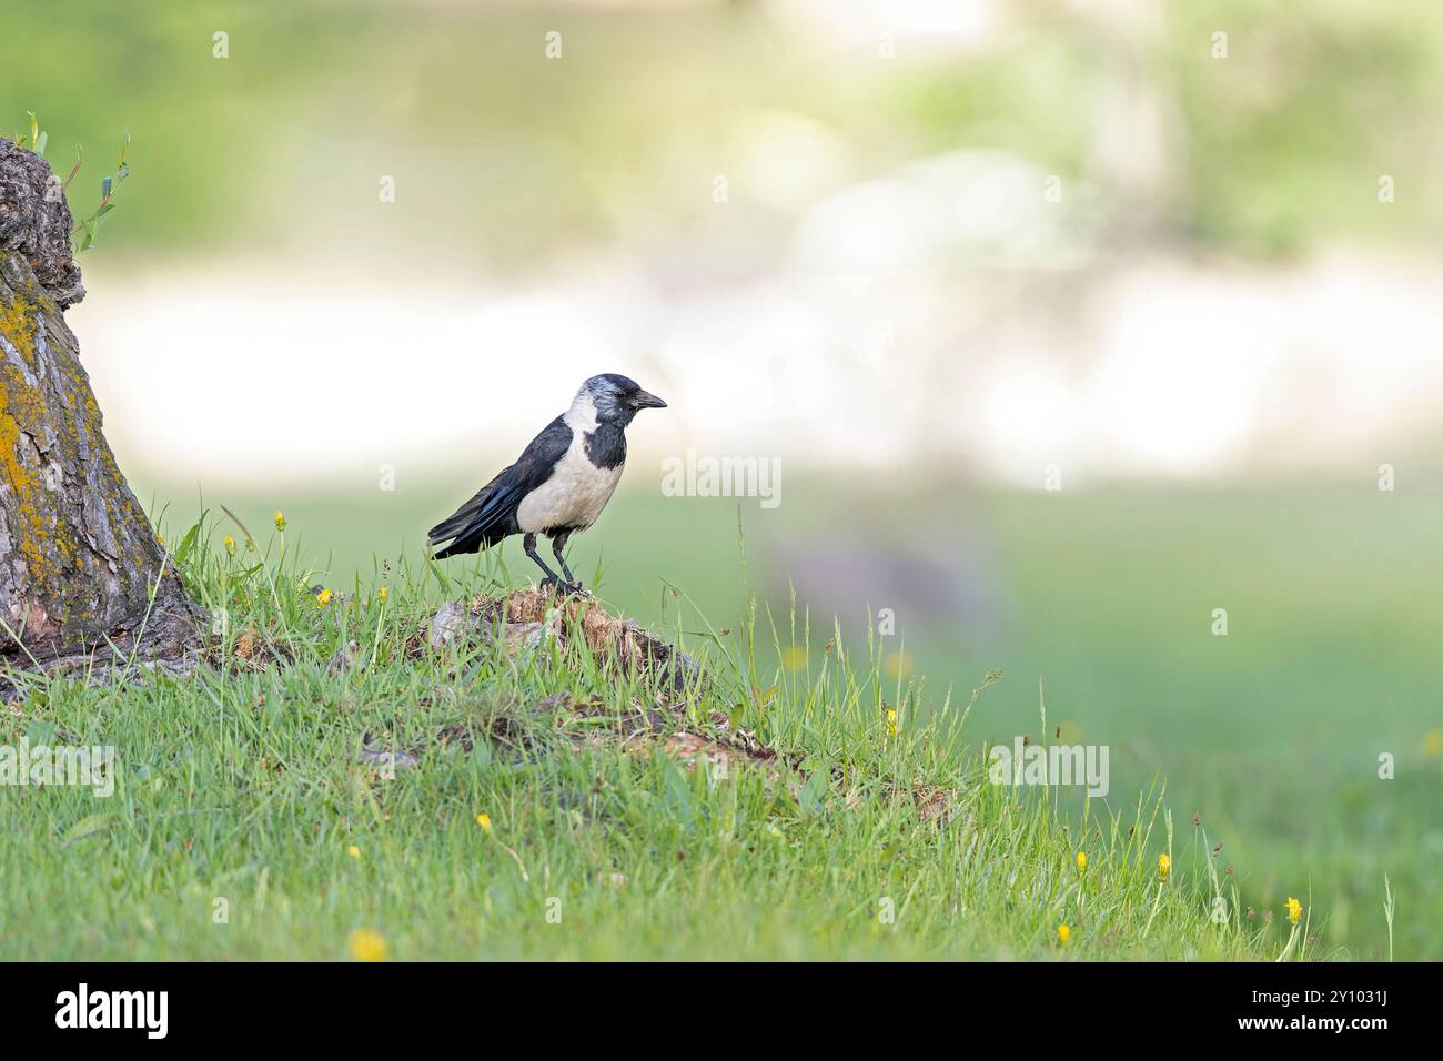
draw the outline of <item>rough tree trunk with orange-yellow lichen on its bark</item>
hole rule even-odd
[[[111,676],[199,644],[65,323],[85,296],[72,227],[45,160],[0,140],[0,693],[9,667]]]

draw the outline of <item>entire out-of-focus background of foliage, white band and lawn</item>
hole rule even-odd
[[[672,409],[574,547],[608,601],[890,608],[938,696],[1007,671],[964,739],[1038,735],[1042,678],[1258,917],[1385,956],[1388,873],[1397,957],[1443,956],[1443,9],[0,9],[0,128],[84,143],[78,214],[134,137],[71,320],[167,533],[280,508],[345,588],[631,371]],[[784,504],[662,497],[687,446]]]

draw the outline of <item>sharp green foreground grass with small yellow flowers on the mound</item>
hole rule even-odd
[[[319,606],[316,576],[283,536],[264,556],[244,543],[231,554],[224,530],[175,546],[196,595],[225,609],[215,667],[104,690],[53,681],[3,716],[7,743],[114,745],[118,774],[108,800],[0,790],[0,957],[343,959],[358,930],[397,959],[1287,948],[1286,925],[1248,924],[1229,883],[1180,865],[1192,826],[1175,830],[1157,798],[1114,782],[1117,814],[1098,803],[1063,813],[1055,793],[988,784],[958,739],[973,697],[885,677],[879,644],[828,650],[837,631],[807,631],[795,612],[779,628],[750,612],[723,634],[672,596],[661,632],[714,681],[671,725],[707,733],[722,712],[797,756],[719,777],[622,741],[620,719],[657,690],[574,644],[517,658],[485,639],[408,650],[439,599],[492,589],[495,567],[442,586],[403,562],[351,586],[328,580],[336,595]],[[365,665],[332,667],[352,641]],[[791,644],[804,664],[762,663]],[[286,663],[254,665],[271,654]],[[599,697],[600,722],[545,702],[563,690]],[[469,754],[439,745],[455,726],[502,736]],[[424,751],[387,780],[358,762],[364,733]],[[931,787],[951,804],[924,820],[913,794]],[[1175,844],[1159,879],[1157,856]],[[1219,891],[1231,915],[1214,924]],[[1310,931],[1297,930],[1290,957],[1316,950]]]

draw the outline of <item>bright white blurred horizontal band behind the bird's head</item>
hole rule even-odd
[[[818,273],[810,254],[694,290],[616,261],[517,290],[97,268],[71,319],[123,459],[211,479],[489,465],[600,371],[671,403],[631,432],[645,458],[942,460],[1030,486],[1052,463],[1069,484],[1369,473],[1443,409],[1443,276],[1421,263],[1153,258],[1056,281],[1088,290],[1059,316],[1043,303],[1061,287],[1006,273]],[[1030,297],[1032,320],[1013,305]]]

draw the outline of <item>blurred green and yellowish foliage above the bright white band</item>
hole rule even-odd
[[[1089,188],[1126,240],[1280,256],[1437,238],[1437,6],[934,7],[883,59],[872,4],[6,0],[0,98],[7,126],[40,114],[58,157],[136,131],[147,178],[107,232],[120,248],[294,248],[365,224],[407,253],[508,267],[623,235],[664,260],[709,224],[697,188],[765,150],[753,134],[778,114],[824,141],[817,192],[965,146]],[[362,212],[378,173],[431,205],[423,227]],[[1372,209],[1381,175],[1388,211]],[[801,204],[742,192],[765,254]],[[82,209],[94,189],[71,195]]]

